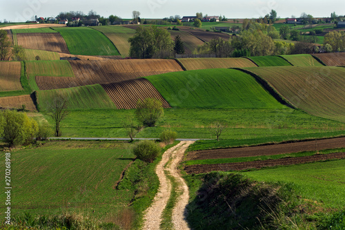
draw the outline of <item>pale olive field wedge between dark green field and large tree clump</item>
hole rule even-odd
[[[135,35],[135,30],[124,26],[96,26],[92,28],[106,35],[112,41],[112,44],[116,46],[117,50],[119,50],[122,57],[129,57],[130,43],[128,39]]]

